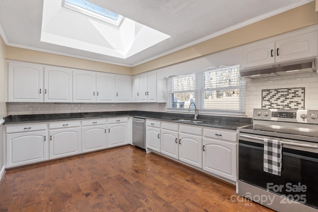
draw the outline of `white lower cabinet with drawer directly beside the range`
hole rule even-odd
[[[237,132],[204,129],[203,170],[237,180]]]

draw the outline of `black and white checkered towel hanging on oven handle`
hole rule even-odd
[[[264,139],[264,171],[280,176],[282,170],[282,143]]]

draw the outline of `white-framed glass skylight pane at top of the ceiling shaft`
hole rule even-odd
[[[119,25],[123,16],[86,0],[65,0],[64,6],[69,9],[90,15],[106,22]]]

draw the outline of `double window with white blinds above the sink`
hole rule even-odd
[[[245,114],[245,82],[239,66],[208,68],[169,77],[167,110],[181,111],[195,102],[203,113]]]

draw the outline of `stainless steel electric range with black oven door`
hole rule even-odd
[[[263,171],[264,139],[282,143],[280,176]],[[238,160],[239,195],[279,212],[318,211],[318,111],[254,109]]]

